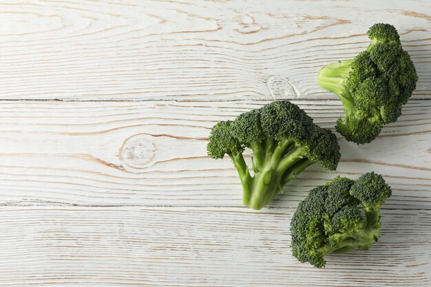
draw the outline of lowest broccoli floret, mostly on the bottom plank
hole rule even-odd
[[[329,253],[371,248],[379,237],[381,204],[390,195],[388,184],[374,172],[355,181],[337,177],[312,189],[291,221],[293,255],[324,267]]]

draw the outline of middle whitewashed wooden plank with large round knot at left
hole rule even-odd
[[[229,158],[208,158],[210,128],[268,102],[0,103],[3,205],[242,206]],[[322,127],[343,114],[337,101],[295,101]],[[385,176],[398,209],[431,209],[431,105],[411,100],[397,123],[368,145],[339,137],[338,171],[315,165],[272,207],[295,206],[337,175]]]

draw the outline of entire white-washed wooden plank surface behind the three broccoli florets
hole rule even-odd
[[[0,286],[431,286],[431,4],[417,1],[1,1]],[[327,63],[397,27],[419,82],[372,143],[339,136],[262,211],[241,204],[220,120],[288,98],[323,127],[341,101]],[[291,255],[307,191],[383,174],[371,251]]]

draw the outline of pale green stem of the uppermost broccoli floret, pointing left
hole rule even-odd
[[[317,83],[320,87],[323,87],[330,92],[334,92],[340,98],[344,105],[346,118],[352,115],[355,108],[353,98],[344,86],[344,81],[352,69],[352,62],[353,60],[331,63],[323,67],[319,72],[319,76],[317,76]]]

